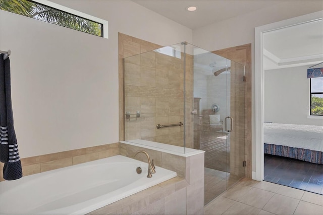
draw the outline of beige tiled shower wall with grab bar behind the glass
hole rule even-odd
[[[149,51],[125,59],[124,114],[130,113],[130,119],[125,121],[125,140],[144,139],[183,146],[184,126],[156,128],[157,124],[184,122],[183,57],[183,53],[179,59]],[[192,59],[186,55],[187,111],[192,110]],[[140,118],[136,117],[138,111]],[[187,131],[192,131],[192,119],[187,115]],[[192,147],[192,137],[186,136],[186,143],[186,147]]]

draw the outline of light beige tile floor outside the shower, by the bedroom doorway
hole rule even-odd
[[[323,195],[244,178],[210,201],[204,214],[323,214]]]

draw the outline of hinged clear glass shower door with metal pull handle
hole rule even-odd
[[[193,48],[194,148],[204,150],[204,204],[245,176],[244,66]]]

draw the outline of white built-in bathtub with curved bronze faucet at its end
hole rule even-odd
[[[156,167],[147,178],[147,169],[147,163],[116,155],[3,181],[0,214],[85,214],[176,177],[176,172]]]

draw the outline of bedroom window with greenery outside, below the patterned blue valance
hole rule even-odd
[[[310,114],[323,116],[323,77],[310,79],[310,96]]]

